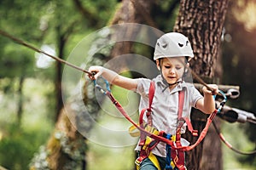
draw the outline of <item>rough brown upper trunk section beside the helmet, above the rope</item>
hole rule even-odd
[[[196,74],[213,77],[228,0],[182,0],[174,31],[189,37],[195,59],[190,63]]]

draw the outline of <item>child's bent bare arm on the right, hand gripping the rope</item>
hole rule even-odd
[[[212,95],[218,94],[218,86],[214,84],[208,86],[213,89],[213,92],[206,87],[202,88],[204,98],[196,102],[196,108],[206,114],[211,114],[215,110],[215,100]]]

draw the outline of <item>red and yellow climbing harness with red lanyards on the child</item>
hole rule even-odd
[[[226,97],[225,94],[222,91],[219,91],[220,94],[223,95],[223,101],[220,103],[218,109],[212,112],[212,114],[207,118],[207,125],[204,127],[202,130],[199,138],[195,142],[195,144],[189,145],[189,146],[182,146],[181,144],[181,127],[183,126],[183,123],[186,122],[189,128],[189,131],[192,133],[192,135],[197,136],[198,132],[193,129],[191,122],[189,122],[188,118],[183,118],[182,117],[182,112],[183,112],[183,91],[179,92],[179,101],[178,101],[178,123],[177,123],[177,133],[175,135],[171,134],[166,134],[163,131],[158,131],[152,126],[152,110],[151,110],[151,105],[153,102],[154,98],[154,82],[150,82],[150,87],[149,87],[149,94],[148,94],[148,100],[149,100],[149,105],[148,108],[145,108],[141,111],[140,117],[139,117],[139,124],[134,122],[131,117],[125,112],[123,107],[119,104],[119,102],[114,99],[113,95],[111,94],[111,91],[109,89],[104,90],[100,85],[96,83],[96,80],[94,80],[94,83],[96,85],[96,88],[102,93],[108,96],[109,99],[113,102],[113,105],[116,106],[116,108],[119,110],[119,112],[125,116],[125,118],[131,122],[133,125],[130,127],[130,132],[131,136],[137,136],[140,134],[140,141],[139,141],[139,146],[141,146],[140,150],[140,155],[135,161],[137,166],[140,165],[140,163],[145,159],[148,158],[150,159],[155,167],[160,169],[159,164],[155,156],[152,154],[151,150],[154,149],[154,147],[159,144],[159,142],[164,142],[166,143],[166,149],[167,153],[170,153],[171,150],[171,156],[166,156],[168,160],[168,164],[166,165],[166,169],[173,169],[173,167],[177,167],[178,170],[186,170],[186,167],[184,166],[184,151],[192,150],[195,148],[196,145],[201,143],[201,140],[204,139],[204,137],[207,134],[208,127],[210,126],[214,116],[218,112],[221,111],[222,107],[226,103]],[[148,118],[148,123],[145,124],[143,122],[143,116],[146,114]],[[132,133],[133,130],[138,129],[139,133]]]

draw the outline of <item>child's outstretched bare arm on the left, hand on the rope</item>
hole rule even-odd
[[[137,79],[122,77],[118,73],[108,70],[102,66],[91,66],[89,71],[96,72],[96,75],[94,77],[90,77],[90,79],[96,79],[97,77],[102,76],[111,84],[117,85],[121,88],[128,90],[135,90],[137,88]]]

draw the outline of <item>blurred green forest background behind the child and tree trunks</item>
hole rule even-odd
[[[80,2],[87,14],[83,15],[75,2]],[[155,3],[152,15],[161,31],[172,31],[178,6],[174,14],[166,14],[175,2]],[[64,56],[68,56],[83,37],[108,26],[119,5],[117,0],[1,0],[0,29],[67,59]],[[240,98],[228,105],[250,112],[256,112],[255,38],[256,2],[230,1],[222,37],[222,82],[241,87]],[[2,36],[0,49],[0,165],[24,170],[29,168],[34,157],[44,159],[44,154],[38,154],[39,150],[44,150],[55,128],[55,61]],[[113,90],[118,99],[122,99],[123,93],[120,89]],[[136,106],[137,100],[134,102]],[[256,127],[252,123],[223,121],[221,131],[234,147],[255,148]],[[134,167],[131,161],[134,160],[133,145],[109,148],[88,141],[88,148],[89,170]],[[241,156],[224,145],[223,149],[225,170],[255,169],[255,155]]]

